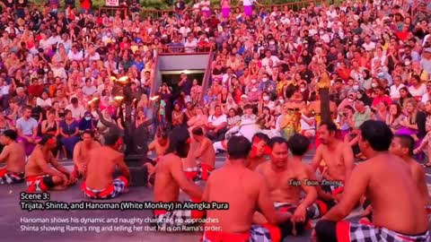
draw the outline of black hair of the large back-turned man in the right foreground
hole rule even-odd
[[[366,120],[359,129],[362,139],[370,143],[374,151],[388,151],[393,137],[388,125],[382,121]]]

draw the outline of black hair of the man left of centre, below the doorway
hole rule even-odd
[[[189,152],[189,130],[184,127],[176,127],[169,134],[169,147],[166,154],[176,153],[180,158],[186,158]]]

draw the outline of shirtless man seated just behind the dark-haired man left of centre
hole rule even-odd
[[[201,127],[195,127],[191,130],[192,140],[189,149],[189,155],[185,160],[184,170],[186,176],[197,182],[199,180],[207,181],[211,171],[215,169],[216,151],[213,143],[204,135]],[[197,164],[196,160],[200,159]]]

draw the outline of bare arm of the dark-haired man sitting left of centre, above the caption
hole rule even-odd
[[[190,182],[182,170],[182,162],[180,159],[172,160],[170,162],[171,174],[175,181],[178,183],[184,193],[195,199],[202,198],[202,191],[200,187]]]

